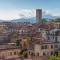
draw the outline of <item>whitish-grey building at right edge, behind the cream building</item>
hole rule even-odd
[[[48,32],[48,40],[52,42],[60,42],[60,29],[52,29]]]

